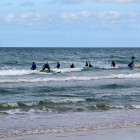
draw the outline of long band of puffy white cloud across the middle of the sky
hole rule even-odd
[[[4,25],[26,25],[39,28],[131,28],[140,23],[139,13],[121,13],[118,11],[59,12],[56,14],[28,12],[21,14],[0,15],[0,23]],[[41,26],[40,26],[41,25]]]

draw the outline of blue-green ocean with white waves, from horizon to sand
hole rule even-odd
[[[140,68],[127,66],[133,55],[139,66],[139,54],[140,48],[0,48],[0,138],[140,125]],[[40,72],[46,62],[55,73]],[[94,67],[81,67],[86,62]]]

